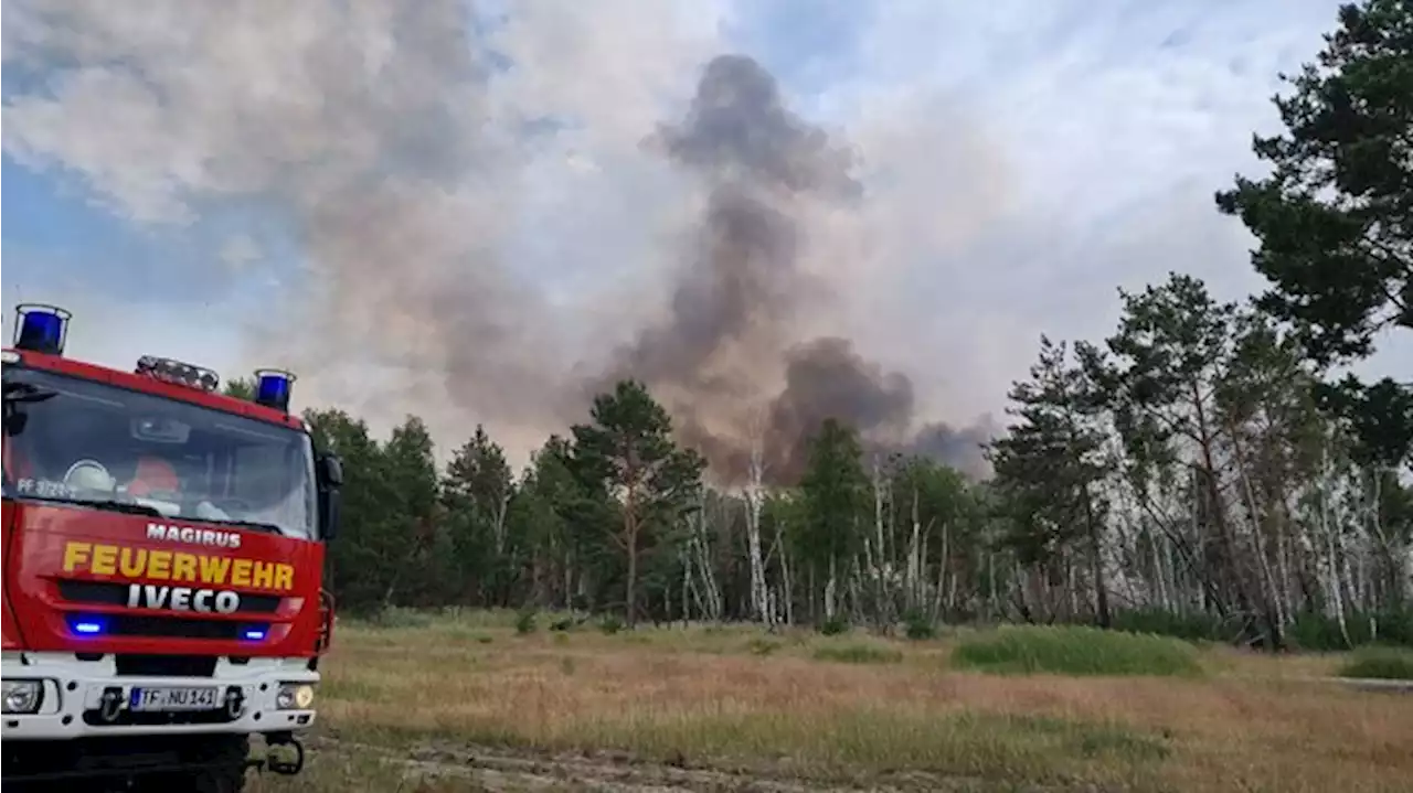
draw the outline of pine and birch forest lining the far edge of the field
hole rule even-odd
[[[1410,51],[1409,3],[1341,10],[1316,62],[1282,76],[1284,128],[1252,141],[1262,175],[1214,196],[1269,288],[1225,302],[1171,272],[1118,292],[1108,337],[1040,339],[983,480],[873,453],[841,415],[798,481],[763,484],[757,453],[716,487],[634,380],[523,471],[480,426],[438,466],[417,416],[373,437],[308,409],[346,470],[341,612],[1413,643],[1413,392],[1349,374],[1413,327]]]

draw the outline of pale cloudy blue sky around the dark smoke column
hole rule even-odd
[[[523,305],[545,312],[534,339],[521,340],[526,354],[550,350],[554,365],[567,367],[577,344],[622,336],[623,313],[658,293],[666,275],[654,262],[694,206],[681,175],[640,144],[656,123],[680,116],[715,54],[756,56],[793,109],[862,152],[868,206],[810,227],[822,251],[811,267],[844,295],[817,325],[853,334],[909,373],[934,413],[969,420],[999,413],[1041,332],[1106,333],[1118,285],[1183,270],[1226,298],[1259,288],[1249,240],[1215,213],[1211,195],[1256,168],[1249,140],[1275,123],[1276,73],[1314,55],[1338,7],[502,3],[513,13],[468,40],[496,52],[492,86],[449,102],[449,120],[427,117],[398,133],[435,135],[444,121],[452,135],[476,133],[473,145],[425,138],[471,162],[452,172],[454,195],[438,200],[476,220],[432,209],[390,226],[390,236],[420,247],[406,261],[387,260],[398,275],[374,289],[369,272],[311,284],[311,272],[339,265],[311,243],[301,212],[315,190],[352,172],[339,162],[373,157],[377,145],[370,133],[360,137],[369,117],[319,110],[321,96],[339,89],[427,107],[397,96],[403,83],[369,87],[348,73],[386,55],[380,14],[393,4],[367,3],[366,17],[348,25],[332,1],[290,7],[278,21],[261,16],[268,4],[167,0],[144,4],[141,20],[75,3],[52,23],[32,14],[38,4],[0,11],[4,302],[71,305],[73,354],[120,365],[171,354],[223,371],[318,363],[325,368],[309,388],[321,399],[389,420],[418,411],[448,426],[534,422],[493,406],[472,415],[476,408],[439,387],[357,394],[331,356],[349,356],[352,367],[379,343],[367,330],[374,310],[425,316],[401,291],[444,291],[448,261],[486,251],[495,274],[456,278],[527,292]],[[329,72],[338,86],[298,72],[309,54],[332,52],[311,44],[321,37],[342,37],[339,47],[357,52]],[[523,135],[527,121],[544,119],[557,123]],[[398,145],[417,154],[422,141]],[[366,247],[335,250],[356,258]],[[397,250],[411,248],[394,248],[394,258]],[[844,250],[858,255],[831,254]],[[315,305],[302,292],[311,286],[324,289],[318,310],[301,309]],[[280,312],[302,337],[253,327]],[[349,315],[365,316],[362,330]],[[408,323],[397,333],[425,336]],[[331,327],[367,336],[307,349]]]

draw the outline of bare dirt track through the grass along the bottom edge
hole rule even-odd
[[[858,793],[890,792],[914,793],[938,790],[961,792],[1051,792],[1037,787],[986,782],[982,779],[937,777],[911,773],[875,779],[868,783],[820,783],[791,779],[769,769],[719,770],[695,769],[681,765],[650,763],[617,753],[595,755],[534,755],[486,746],[420,748],[396,752],[384,746],[352,744],[332,738],[311,742],[314,752],[357,753],[377,756],[390,765],[403,765],[408,779],[465,780],[469,790],[509,792],[625,792],[625,793],[687,793],[687,792],[752,792],[752,793]],[[1067,790],[1075,790],[1070,787]],[[1081,787],[1080,790],[1096,790]]]

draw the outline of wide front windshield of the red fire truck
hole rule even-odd
[[[0,483],[20,498],[315,536],[308,435],[34,370],[3,373]],[[57,395],[34,401],[32,387]]]

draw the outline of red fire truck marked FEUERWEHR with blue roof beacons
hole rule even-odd
[[[290,415],[294,375],[261,370],[254,399],[226,396],[170,358],[66,358],[68,312],[16,315],[0,349],[0,790],[235,793],[250,766],[298,773],[343,474]]]

